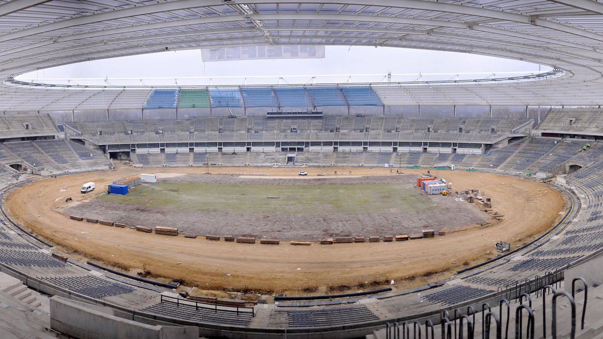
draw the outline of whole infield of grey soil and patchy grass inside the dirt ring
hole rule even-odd
[[[414,187],[416,177],[187,174],[172,177],[171,183],[140,185],[144,188],[134,188],[131,196],[99,195],[103,200],[67,204],[59,211],[128,225],[177,227],[198,235],[294,240],[412,235],[494,220],[476,204],[452,195],[426,195]],[[178,182],[182,185],[172,185]]]

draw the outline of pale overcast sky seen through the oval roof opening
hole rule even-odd
[[[541,71],[549,67],[542,66]],[[384,81],[388,71],[393,74],[412,73],[415,75],[392,77],[393,81],[418,80],[419,72],[453,73],[450,75],[423,75],[422,80],[455,79],[455,74],[466,72],[487,72],[487,74],[459,75],[459,78],[509,77],[516,74],[502,74],[513,71],[538,71],[538,65],[519,60],[485,57],[475,54],[425,51],[405,48],[374,48],[364,46],[326,46],[324,59],[268,59],[225,62],[203,62],[200,50],[170,51],[153,54],[122,57],[118,59],[95,60],[24,74],[19,79],[37,78],[41,82],[48,78],[109,78],[112,85],[174,86],[207,84],[277,84],[311,83],[311,77],[286,77],[286,75],[341,75],[339,77],[317,77],[316,83],[361,83]],[[380,74],[358,76],[350,74]],[[247,78],[245,76],[273,75],[273,77]],[[169,77],[169,79],[142,79]],[[197,78],[185,77],[235,77]],[[116,78],[137,78],[136,80],[116,80]],[[174,80],[178,78],[178,80]],[[211,83],[210,83],[211,81]],[[104,84],[104,81],[73,80],[71,84]]]

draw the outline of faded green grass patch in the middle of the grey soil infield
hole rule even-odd
[[[140,185],[130,194],[147,187]],[[277,199],[268,197],[279,197]],[[433,207],[418,189],[404,184],[227,185],[157,183],[135,195],[98,197],[116,203],[190,211],[254,214],[366,214],[423,211]]]

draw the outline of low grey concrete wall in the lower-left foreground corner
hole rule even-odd
[[[54,331],[80,339],[199,338],[199,329],[195,326],[145,325],[58,296],[50,299],[50,318],[50,325]]]

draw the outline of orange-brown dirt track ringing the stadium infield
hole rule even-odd
[[[389,174],[387,168],[330,168],[349,171],[353,175]],[[210,171],[266,173],[271,176],[297,175],[297,168],[211,168]],[[425,170],[407,170],[421,173]],[[13,220],[33,232],[60,244],[67,255],[103,259],[118,267],[139,270],[145,267],[163,277],[182,277],[188,284],[206,289],[236,289],[293,292],[347,285],[352,290],[370,288],[371,282],[396,280],[397,288],[434,281],[459,268],[494,256],[494,242],[510,241],[516,247],[535,234],[543,232],[563,210],[565,198],[555,189],[518,177],[498,176],[467,171],[446,171],[455,189],[478,188],[493,199],[493,208],[505,215],[491,227],[449,233],[436,238],[405,242],[362,244],[312,244],[312,246],[280,246],[212,242],[202,238],[136,232],[131,229],[69,220],[53,211],[82,195],[81,183],[93,181],[103,187],[119,177],[138,173],[204,173],[205,168],[137,169],[119,166],[118,171],[74,174],[45,178],[15,189],[5,206]],[[320,168],[308,169],[310,176]],[[393,174],[395,175],[395,174]],[[453,217],[453,216],[452,216]],[[75,250],[75,253],[69,253]],[[429,263],[427,265],[427,263]],[[439,272],[439,273],[438,273]],[[227,276],[226,274],[230,274]],[[415,277],[415,278],[412,278]]]

